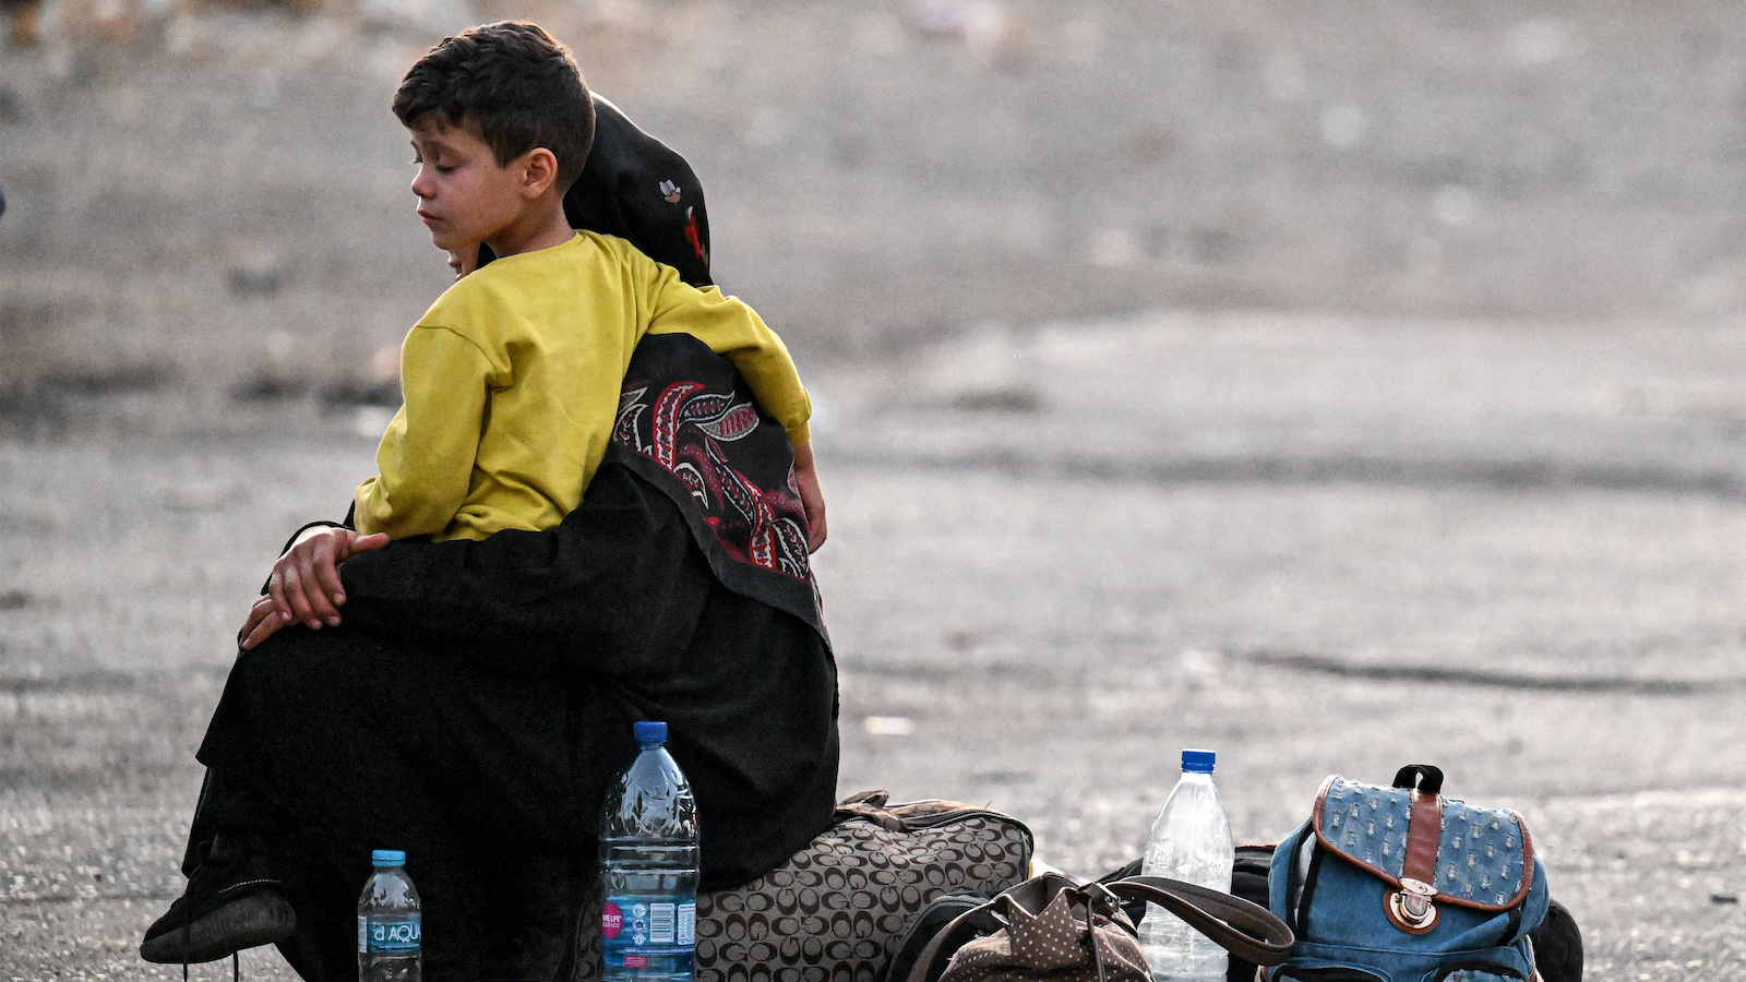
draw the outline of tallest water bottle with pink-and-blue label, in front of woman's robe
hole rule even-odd
[[[691,982],[697,951],[697,800],[662,746],[667,723],[636,723],[643,750],[606,792],[601,819],[601,970]]]

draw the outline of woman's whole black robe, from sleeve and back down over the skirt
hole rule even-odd
[[[829,648],[723,587],[627,467],[602,467],[553,533],[393,543],[342,571],[344,624],[243,652],[199,751],[271,828],[299,916],[281,951],[306,979],[356,970],[353,905],[382,847],[407,851],[424,896],[431,982],[552,977],[634,720],[669,723],[705,889],[829,825]],[[222,837],[225,800],[208,788],[196,839]]]

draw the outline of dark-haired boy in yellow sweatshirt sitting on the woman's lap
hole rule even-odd
[[[555,526],[601,463],[644,334],[691,334],[746,376],[794,446],[817,549],[826,526],[810,400],[782,341],[714,287],[569,227],[564,194],[594,133],[569,52],[534,24],[471,28],[414,65],[395,114],[412,135],[412,190],[433,245],[452,255],[484,245],[498,259],[457,280],[407,335],[405,404],[382,437],[379,474],[358,488],[358,533],[314,529],[311,545],[281,559],[267,633],[337,624],[332,563],[382,535],[478,540]],[[244,634],[244,647],[265,636]]]

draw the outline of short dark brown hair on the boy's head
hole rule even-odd
[[[567,190],[594,143],[594,98],[569,49],[540,24],[468,28],[430,49],[402,79],[395,115],[405,126],[435,117],[478,128],[498,166],[534,147],[557,157]]]

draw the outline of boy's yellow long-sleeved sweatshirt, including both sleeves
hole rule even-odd
[[[443,292],[400,349],[405,404],[358,486],[358,531],[485,538],[555,526],[606,454],[630,351],[690,334],[808,440],[812,402],[751,308],[613,236],[498,259]]]

